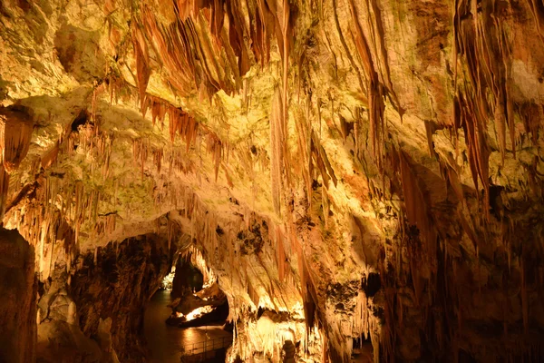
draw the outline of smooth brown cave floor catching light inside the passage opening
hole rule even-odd
[[[180,363],[183,348],[201,343],[207,339],[232,338],[232,335],[220,327],[200,327],[180,329],[165,323],[171,309],[170,291],[157,291],[145,309],[144,334],[148,342],[152,363]]]

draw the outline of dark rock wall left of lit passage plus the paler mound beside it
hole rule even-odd
[[[149,233],[82,253],[70,270],[57,261],[38,284],[37,361],[145,361],[144,307],[174,253]]]

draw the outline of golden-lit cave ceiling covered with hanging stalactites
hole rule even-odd
[[[312,300],[339,357],[398,316],[384,293],[385,317],[355,323],[370,273],[411,308],[441,269],[544,282],[539,0],[5,0],[0,103],[4,226],[45,276],[59,240],[70,261],[179,230],[292,290],[260,281],[270,307]],[[233,262],[257,224],[266,258]],[[467,319],[499,319],[457,291]],[[539,295],[519,293],[529,329]],[[423,344],[381,331],[397,356]]]

